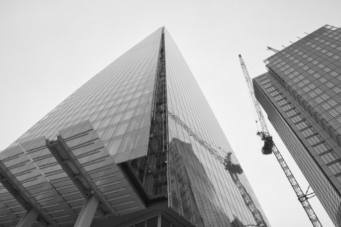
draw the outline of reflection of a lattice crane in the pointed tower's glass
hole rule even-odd
[[[207,151],[209,151],[220,163],[222,163],[225,169],[229,172],[234,184],[237,186],[242,199],[246,207],[250,210],[254,220],[256,221],[256,227],[267,227],[266,222],[264,221],[262,214],[257,209],[256,205],[254,204],[251,196],[247,193],[244,185],[240,182],[238,174],[243,172],[241,166],[239,164],[234,164],[231,161],[231,152],[226,152],[225,158],[220,155],[220,153],[215,150],[211,144],[207,143],[205,140],[201,138],[201,136],[196,133],[193,129],[191,129],[185,122],[183,122],[179,116],[168,112],[168,115],[180,125],[184,130],[186,130],[189,136],[192,136],[194,140],[196,140],[201,146],[203,146]],[[224,151],[225,152],[225,151]]]

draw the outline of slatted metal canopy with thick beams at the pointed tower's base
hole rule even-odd
[[[99,201],[94,219],[145,208],[137,191],[89,121],[61,130],[55,141],[39,137],[0,157],[0,227],[16,226],[27,210],[33,227],[75,224],[90,195]]]

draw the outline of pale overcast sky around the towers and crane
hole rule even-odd
[[[161,26],[208,99],[272,227],[311,227],[274,155],[262,144],[239,65],[263,60],[319,27],[341,26],[340,0],[0,0],[0,150],[92,76]],[[303,191],[299,168],[268,123]],[[316,197],[324,227],[333,227]]]

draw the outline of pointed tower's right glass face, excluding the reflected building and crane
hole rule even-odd
[[[227,153],[231,152],[232,162],[237,165],[238,161],[227,142],[223,130],[177,45],[166,29],[165,52],[168,112],[178,116],[179,119],[196,132],[200,138],[210,144],[214,150],[218,151],[222,157],[227,156]],[[245,205],[239,188],[219,160],[217,160],[214,155],[210,154],[210,151],[207,148],[195,140],[193,135],[190,135],[184,127],[177,124],[169,114],[168,127],[169,143],[179,141],[179,143],[183,145],[186,144],[186,147],[190,148],[188,150],[193,150],[193,153],[202,164],[202,167],[198,168],[203,168],[207,174],[202,176],[204,178],[201,179],[202,184],[211,182],[206,186],[211,187],[210,185],[212,184],[215,188],[218,199],[212,199],[212,205],[206,204],[206,206],[208,206],[207,209],[211,209],[210,215],[212,214],[212,217],[215,217],[222,214],[221,209],[223,209],[230,222],[233,222],[237,217],[245,226],[257,225],[251,211]],[[187,171],[189,172],[190,170]],[[238,176],[257,208],[261,211],[260,205],[253,194],[245,174],[240,172]],[[205,190],[203,189],[202,191]],[[205,194],[201,194],[200,196],[205,196]],[[211,195],[205,197],[210,199]],[[269,226],[264,214],[263,217],[266,224]],[[226,218],[220,218],[223,225]]]

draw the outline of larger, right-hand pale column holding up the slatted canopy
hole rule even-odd
[[[91,195],[85,202],[81,213],[78,216],[75,227],[90,227],[93,221],[94,215],[96,213],[99,201],[98,199]]]

